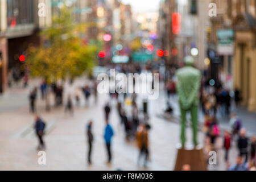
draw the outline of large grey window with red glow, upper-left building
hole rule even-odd
[[[7,0],[8,27],[33,23],[33,7],[33,0]]]

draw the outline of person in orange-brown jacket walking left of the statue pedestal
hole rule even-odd
[[[140,163],[141,157],[144,155],[144,167],[147,167],[147,161],[149,156],[148,151],[148,130],[146,125],[141,125],[138,129],[137,135],[137,145],[139,148],[138,164]]]

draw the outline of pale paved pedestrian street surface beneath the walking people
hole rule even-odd
[[[77,80],[73,87],[65,85],[67,92],[83,84],[83,79]],[[106,164],[106,149],[104,142],[104,110],[103,107],[109,96],[101,94],[98,103],[94,103],[92,96],[88,107],[81,103],[75,107],[74,116],[65,114],[64,108],[52,107],[50,112],[44,109],[44,102],[39,103],[37,109],[46,121],[46,165],[39,165],[37,146],[38,139],[34,131],[34,115],[29,113],[28,92],[32,88],[10,89],[0,97],[0,170],[173,170],[176,159],[176,145],[179,143],[180,125],[159,115],[165,109],[163,94],[158,100],[149,102],[150,110],[150,163],[148,168],[138,165],[138,148],[135,142],[125,140],[125,131],[120,124],[116,101],[111,100],[112,111],[110,123],[114,128],[112,142],[113,163]],[[162,91],[160,91],[162,92]],[[65,97],[64,97],[65,98]],[[83,100],[83,98],[81,98]],[[138,98],[140,100],[140,98]],[[140,103],[140,101],[138,102]],[[139,105],[141,109],[142,105]],[[158,108],[156,110],[156,108]],[[95,141],[92,151],[92,165],[86,162],[87,143],[85,137],[86,124],[93,120],[92,131]],[[191,141],[191,131],[188,130],[188,140]],[[204,143],[204,134],[199,133],[200,143]],[[225,170],[221,140],[218,144],[218,163],[209,169]],[[235,149],[230,156],[235,156]],[[235,159],[234,157],[230,157]]]

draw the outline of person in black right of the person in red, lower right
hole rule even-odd
[[[240,156],[245,156],[245,163],[248,160],[248,138],[246,137],[246,129],[241,129],[240,136],[237,141]]]

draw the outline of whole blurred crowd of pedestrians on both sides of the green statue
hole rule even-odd
[[[138,65],[123,65],[115,66],[119,72],[134,73],[142,72],[142,68]],[[151,65],[146,65],[144,68],[147,71],[152,71]],[[204,80],[204,79],[203,79]],[[235,113],[232,113],[232,103],[236,103],[239,106],[241,101],[240,92],[238,89],[234,92],[230,92],[229,89],[224,88],[221,84],[211,86],[207,84],[207,81],[202,81],[200,89],[200,109],[204,114],[204,126],[203,131],[205,132],[205,151],[217,151],[216,140],[221,138],[223,150],[225,152],[224,160],[226,162],[227,169],[229,170],[250,170],[255,169],[255,137],[250,139],[246,136],[246,129],[242,127],[242,119],[239,118]],[[63,106],[63,86],[53,83],[51,86],[46,84],[46,81],[42,81],[39,86],[42,100],[46,100],[48,89],[51,90],[55,96],[55,106]],[[165,89],[167,92],[167,109],[166,112],[172,114],[173,108],[170,104],[173,96],[176,94],[176,80],[175,80],[175,68],[170,69],[170,76],[166,79]],[[38,88],[31,90],[29,95],[30,110],[32,113],[36,113],[36,100]],[[65,112],[74,114],[73,109],[73,97],[75,98],[77,106],[80,105],[81,96],[79,92],[82,92],[85,99],[85,105],[89,106],[89,98],[94,95],[94,101],[97,102],[97,82],[94,82],[92,86],[85,85],[82,88],[78,88],[74,95],[68,94],[67,102],[64,106]],[[234,93],[234,95],[232,95]],[[137,95],[136,94],[118,94],[111,93],[109,96],[113,100],[117,101],[116,109],[118,111],[119,121],[124,129],[125,139],[127,141],[137,142],[139,148],[139,159],[144,156],[144,166],[147,166],[149,159],[149,140],[148,131],[150,130],[150,124],[148,123],[148,111],[147,101],[143,101],[142,109],[138,109]],[[127,105],[131,106],[131,113],[127,113]],[[110,102],[107,102],[102,109],[105,113],[105,144],[108,156],[108,163],[112,161],[112,138],[114,137],[114,130],[111,126],[110,113],[112,112],[113,106]],[[141,117],[142,116],[142,117]],[[230,117],[229,130],[222,131],[220,129],[219,119],[224,117]],[[88,164],[92,164],[92,151],[93,151],[93,121],[88,123],[86,126],[86,135],[88,138]],[[39,138],[39,148],[44,148],[43,142],[43,131],[45,123],[36,116],[36,135]],[[230,149],[236,145],[238,150],[238,156],[236,164],[230,164]]]

